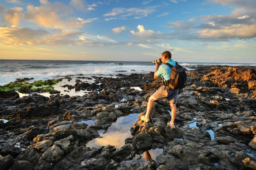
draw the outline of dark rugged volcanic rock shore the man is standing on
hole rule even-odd
[[[19,98],[13,91],[0,92],[1,168],[256,169],[255,74],[255,66],[201,66],[189,71],[179,91],[174,130],[166,126],[166,100],[154,103],[150,122],[139,120],[147,99],[161,86],[153,72],[94,77],[92,84],[77,81],[72,88],[97,89],[84,96]],[[99,131],[105,133],[118,118],[135,113],[131,136],[120,139],[123,146],[87,147],[101,138]],[[154,160],[149,159],[152,149],[162,149]],[[148,161],[138,162],[143,153]]]

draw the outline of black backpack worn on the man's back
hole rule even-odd
[[[172,66],[169,63],[165,63],[167,66],[171,67],[170,80],[168,80],[168,86],[171,89],[183,88],[185,82],[187,81],[186,69],[175,62],[176,65]]]

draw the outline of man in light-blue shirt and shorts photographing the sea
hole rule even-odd
[[[167,66],[165,63],[169,63],[172,66],[176,65],[176,62],[171,59],[172,54],[169,51],[164,51],[161,55],[161,63],[155,63],[155,72],[154,72],[154,78],[162,77],[163,81],[167,81],[170,79],[170,73],[171,73],[171,68]],[[167,85],[167,84],[166,84]],[[163,99],[166,98],[169,101],[171,110],[172,110],[172,119],[170,122],[167,123],[167,126],[170,126],[171,129],[175,129],[174,126],[174,120],[176,117],[176,102],[177,102],[177,97],[178,97],[178,89],[171,89],[170,87],[165,86],[162,84],[162,86],[155,91],[155,93],[150,96],[148,99],[148,104],[147,104],[147,112],[146,115],[143,115],[140,117],[140,120],[143,120],[145,122],[149,121],[149,114],[153,108],[153,103],[154,101],[158,99]]]

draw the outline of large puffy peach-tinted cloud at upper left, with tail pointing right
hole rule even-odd
[[[45,28],[73,29],[83,27],[85,23],[90,23],[97,18],[84,20],[82,18],[67,17],[72,10],[59,2],[50,3],[47,0],[40,1],[40,7],[27,6],[25,19],[33,21],[37,25]]]

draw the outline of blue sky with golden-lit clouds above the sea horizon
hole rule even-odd
[[[256,0],[0,0],[0,59],[256,63]]]

